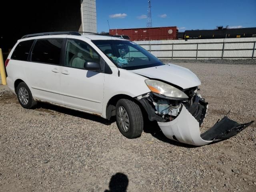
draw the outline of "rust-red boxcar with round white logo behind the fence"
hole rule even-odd
[[[146,40],[172,40],[178,36],[178,28],[152,27],[152,28],[130,28],[130,29],[110,29],[110,35],[128,35],[131,41]]]

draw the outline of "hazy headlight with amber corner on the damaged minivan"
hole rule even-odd
[[[145,80],[145,82],[148,88],[154,93],[161,94],[172,99],[188,99],[188,96],[184,92],[167,83],[157,80]]]

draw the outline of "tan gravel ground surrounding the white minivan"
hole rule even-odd
[[[228,110],[256,119],[256,66],[181,63],[210,103],[202,130]],[[256,191],[256,123],[237,136],[193,147],[156,124],[129,140],[114,121],[48,104],[20,106],[0,87],[0,191]]]

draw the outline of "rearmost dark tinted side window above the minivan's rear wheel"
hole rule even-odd
[[[14,52],[12,53],[11,59],[26,61],[28,60],[28,54],[34,40],[22,41],[20,42]]]

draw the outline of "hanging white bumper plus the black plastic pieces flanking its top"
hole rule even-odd
[[[235,136],[254,122],[239,124],[224,116],[212,128],[201,134],[200,125],[206,116],[208,103],[201,98],[200,94],[195,95],[194,102],[190,106],[182,104],[176,118],[170,118],[170,121],[166,122],[161,121],[160,116],[152,114],[154,108],[148,105],[149,102],[145,99],[139,101],[148,112],[149,119],[158,121],[159,127],[167,138],[195,146],[202,146]]]

